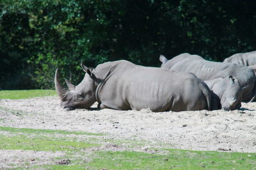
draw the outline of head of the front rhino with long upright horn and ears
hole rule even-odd
[[[60,83],[59,69],[56,69],[54,84],[58,96],[60,97],[61,108],[65,110],[74,110],[76,108],[90,108],[95,103],[95,90],[97,87],[95,76],[92,73],[92,69],[81,64],[84,74],[83,81],[79,85],[75,86],[67,79],[65,80],[68,85],[68,90],[64,90]]]

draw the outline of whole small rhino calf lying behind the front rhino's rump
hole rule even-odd
[[[232,76],[207,80],[205,83],[212,90],[212,110],[239,110],[244,88]]]

